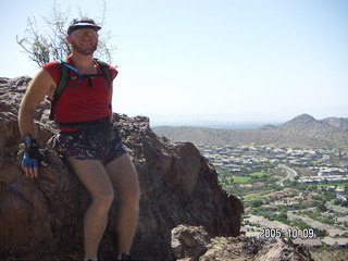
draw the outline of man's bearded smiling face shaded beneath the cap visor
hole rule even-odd
[[[84,55],[90,55],[97,50],[98,33],[94,28],[82,28],[73,30],[66,40],[73,50]]]

